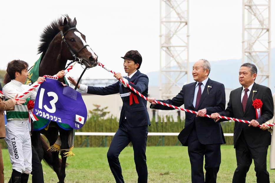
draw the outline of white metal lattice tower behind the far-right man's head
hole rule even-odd
[[[271,87],[271,0],[243,0],[242,63],[258,68],[257,83]]]

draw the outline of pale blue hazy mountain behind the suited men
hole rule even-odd
[[[272,93],[275,92],[275,48],[271,49],[271,91]],[[240,69],[240,66],[242,64],[242,60],[223,60],[223,61],[209,61],[211,64],[211,71],[209,74],[209,78],[212,80],[218,81],[220,83],[223,83],[225,88],[227,89],[235,89],[240,87],[240,83],[238,80],[238,72]],[[193,77],[192,77],[192,67],[193,67],[194,62],[189,63],[189,82],[193,82]],[[159,86],[159,71],[155,72],[150,72],[147,73],[149,77],[149,86],[150,87],[156,87]],[[186,82],[186,78],[183,78],[180,80],[178,83],[183,83]],[[256,83],[257,83],[257,78],[256,78]],[[262,85],[267,86],[267,80],[265,80]]]

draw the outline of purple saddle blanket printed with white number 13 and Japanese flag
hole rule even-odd
[[[74,129],[81,128],[87,120],[87,108],[81,94],[53,79],[40,85],[34,114]]]

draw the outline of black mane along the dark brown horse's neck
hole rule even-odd
[[[68,23],[63,26],[63,17],[67,19]],[[44,28],[42,34],[40,35],[40,44],[38,47],[38,54],[42,53],[41,60],[43,59],[47,49],[49,48],[50,43],[53,38],[60,31],[67,31],[69,28],[76,27],[76,23],[73,23],[72,19],[67,15],[62,15],[57,20],[52,21],[47,27]]]

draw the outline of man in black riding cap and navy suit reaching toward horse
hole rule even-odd
[[[148,76],[140,73],[138,70],[142,62],[140,53],[131,50],[121,58],[124,59],[123,66],[125,73],[128,75],[127,77],[122,77],[121,73],[115,73],[114,77],[117,78],[117,80],[124,80],[125,83],[128,83],[145,97],[148,97]],[[68,79],[74,86],[77,84],[73,78],[69,77]],[[119,128],[107,152],[109,166],[116,182],[124,182],[118,155],[132,142],[138,182],[147,183],[148,171],[145,150],[148,125],[151,125],[146,107],[147,101],[134,93],[130,88],[127,88],[125,84],[120,83],[120,81],[106,87],[93,87],[79,84],[77,88],[95,95],[120,93],[123,105],[120,113]]]

